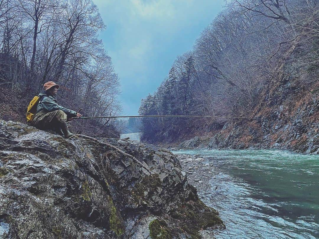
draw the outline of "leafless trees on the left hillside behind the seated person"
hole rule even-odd
[[[65,107],[84,115],[119,111],[119,80],[98,33],[105,28],[91,0],[0,0],[0,118],[24,120],[47,81],[61,85]],[[74,131],[117,134],[109,121],[73,122]]]

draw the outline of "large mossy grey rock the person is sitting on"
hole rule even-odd
[[[165,149],[0,120],[0,155],[2,238],[200,238],[225,227]]]

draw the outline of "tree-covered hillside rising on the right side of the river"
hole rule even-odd
[[[295,140],[318,126],[318,73],[319,1],[229,1],[193,49],[176,58],[157,91],[142,100],[139,113],[256,117],[260,120],[232,120],[224,128],[267,128],[257,138],[247,133],[242,147],[249,147],[265,134],[280,138],[276,130],[293,124],[288,116],[299,110],[303,114],[297,123],[306,130],[293,135]],[[277,108],[278,115],[273,113]],[[284,118],[278,127],[275,122]],[[174,142],[214,136],[227,121],[143,118],[143,139]],[[232,127],[222,131],[225,138]],[[238,139],[243,131],[237,132]]]

